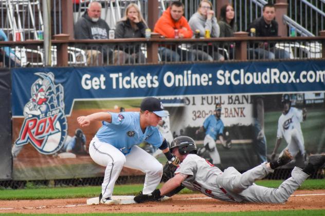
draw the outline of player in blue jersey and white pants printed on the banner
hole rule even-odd
[[[209,115],[204,121],[203,126],[196,130],[196,134],[199,132],[205,131],[205,138],[203,144],[208,150],[212,163],[216,166],[220,166],[220,155],[218,149],[216,148],[215,141],[220,140],[221,144],[224,147],[227,147],[227,144],[223,138],[224,124],[221,117],[221,104],[215,105],[214,115]],[[228,146],[229,148],[229,146]]]

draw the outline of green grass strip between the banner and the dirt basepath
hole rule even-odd
[[[282,180],[261,180],[256,184],[276,188]],[[31,187],[31,186],[29,186]],[[135,195],[142,190],[142,184],[116,185],[114,195]],[[161,185],[159,185],[159,188]],[[306,180],[299,189],[325,189],[323,180]],[[39,200],[39,199],[68,199],[98,197],[100,186],[88,187],[56,187],[56,188],[28,188],[28,189],[2,189],[0,200]],[[193,193],[183,189],[180,193]]]

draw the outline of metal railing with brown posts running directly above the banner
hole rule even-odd
[[[239,32],[241,33],[241,32]],[[325,37],[52,40],[49,66],[146,65],[324,58]],[[1,67],[45,66],[41,41],[0,42]],[[5,49],[10,48],[10,56]],[[264,51],[267,51],[266,54]],[[272,52],[272,53],[268,53]],[[282,53],[286,57],[283,57]],[[261,54],[262,53],[262,54]]]

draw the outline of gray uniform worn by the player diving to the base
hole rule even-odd
[[[188,154],[176,169],[175,174],[183,173],[188,178],[183,186],[197,190],[208,197],[228,202],[283,203],[308,178],[308,174],[295,167],[292,177],[285,180],[279,188],[267,188],[254,184],[274,170],[266,162],[243,174],[233,167],[222,172],[196,154]]]

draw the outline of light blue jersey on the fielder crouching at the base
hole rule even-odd
[[[139,112],[110,112],[110,114],[112,123],[103,122],[103,126],[96,133],[101,142],[113,145],[123,154],[128,154],[132,146],[139,145],[143,141],[155,147],[160,147],[163,143],[164,138],[156,127],[149,126],[145,133],[142,133]]]

